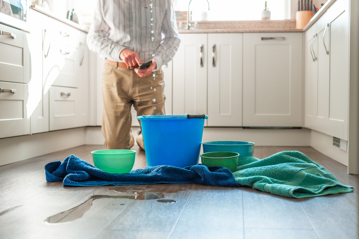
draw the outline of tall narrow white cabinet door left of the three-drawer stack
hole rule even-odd
[[[49,88],[43,79],[43,37],[48,16],[31,10],[31,79],[28,112],[31,115],[31,134],[49,131]]]

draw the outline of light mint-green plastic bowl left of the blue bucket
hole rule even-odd
[[[96,168],[108,173],[129,173],[134,164],[135,150],[104,149],[92,151],[92,159]]]

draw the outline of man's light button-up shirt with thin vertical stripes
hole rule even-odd
[[[172,0],[98,0],[86,41],[103,58],[122,62],[127,48],[158,69],[180,46]]]

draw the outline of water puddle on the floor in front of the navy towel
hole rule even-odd
[[[175,200],[172,199],[161,199],[165,197],[165,193],[173,193],[179,191],[186,191],[187,189],[180,189],[180,190],[165,190],[164,192],[154,192],[150,191],[150,189],[126,189],[121,186],[114,186],[108,188],[108,191],[116,191],[119,195],[92,195],[89,199],[87,199],[84,203],[71,208],[69,210],[60,212],[53,216],[48,217],[44,223],[45,224],[60,224],[60,223],[68,223],[72,222],[78,218],[81,218],[85,212],[90,210],[92,206],[92,202],[97,199],[103,198],[127,198],[133,200],[156,200],[157,202],[163,203],[174,203]],[[120,205],[125,205],[125,203],[121,203]]]

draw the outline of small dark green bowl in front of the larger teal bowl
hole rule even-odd
[[[239,153],[236,152],[207,152],[201,155],[202,164],[208,166],[220,166],[231,170],[233,173],[238,166]]]

